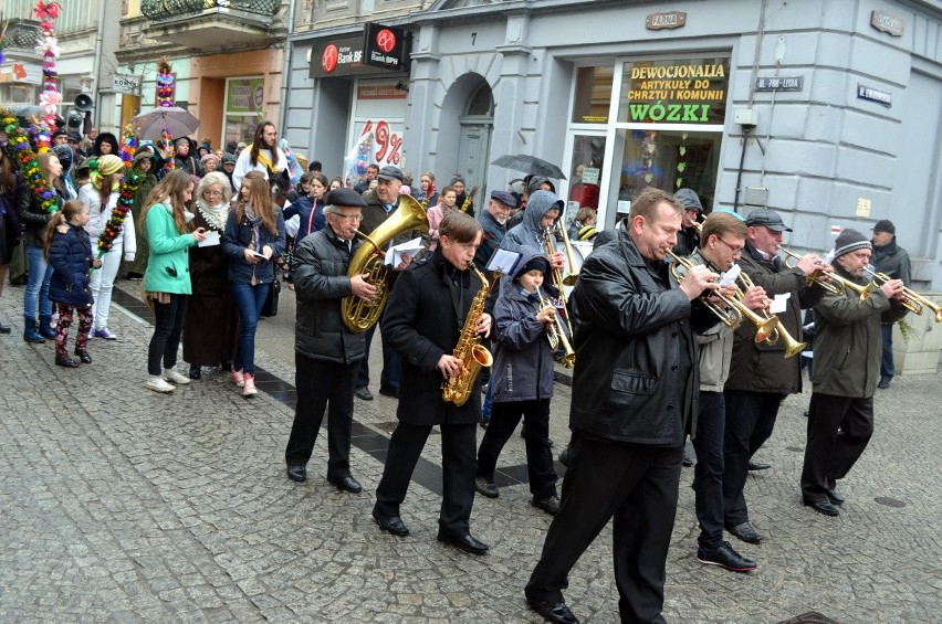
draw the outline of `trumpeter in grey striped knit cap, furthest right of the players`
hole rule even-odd
[[[845,230],[834,243],[835,273],[867,284],[870,242]],[[856,293],[827,294],[815,306],[815,379],[808,406],[808,442],[802,499],[825,516],[837,516],[836,490],[864,454],[873,433],[873,394],[880,361],[880,324],[906,316],[903,283],[889,279],[861,302]]]

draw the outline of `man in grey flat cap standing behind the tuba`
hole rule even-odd
[[[368,170],[367,170],[368,171]],[[369,176],[369,173],[367,173]],[[388,165],[380,169],[375,176],[379,180],[379,184],[369,191],[363,193],[363,200],[366,202],[366,208],[363,210],[363,223],[359,225],[359,231],[364,234],[371,234],[374,230],[379,228],[389,215],[393,214],[399,207],[399,189],[402,188],[405,176],[398,167]],[[404,236],[405,239],[405,236]],[[405,239],[408,240],[408,239]],[[397,241],[401,242],[401,241]],[[410,258],[405,257],[404,264],[396,267],[396,271],[401,271],[410,262]],[[359,373],[356,382],[356,396],[363,401],[373,401],[373,393],[369,391],[369,346],[373,343],[373,336],[376,334],[374,325],[366,330],[366,357],[360,363]],[[384,396],[399,398],[399,356],[390,349],[386,341],[383,342],[383,372],[379,377],[379,393]]]

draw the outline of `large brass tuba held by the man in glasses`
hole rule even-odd
[[[418,226],[428,229],[429,221],[426,211],[419,202],[409,195],[399,195],[399,208],[383,222],[371,235],[357,232],[364,240],[350,258],[347,276],[354,277],[369,273],[369,284],[376,287],[376,295],[369,302],[364,302],[355,295],[344,297],[341,302],[341,318],[353,334],[366,331],[379,320],[386,300],[389,298],[390,268],[384,264],[383,247],[401,234]]]

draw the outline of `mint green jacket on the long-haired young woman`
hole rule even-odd
[[[180,234],[174,223],[172,209],[163,203],[147,211],[144,230],[150,243],[150,260],[144,274],[144,289],[148,293],[191,295],[189,247],[197,242],[192,234]]]

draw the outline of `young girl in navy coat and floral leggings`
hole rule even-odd
[[[83,225],[88,222],[88,207],[71,199],[62,210],[52,215],[45,229],[45,260],[52,267],[49,298],[59,311],[55,330],[55,363],[64,368],[76,368],[78,362],[69,357],[69,327],[73,311],[78,313],[78,336],[75,337],[75,355],[84,363],[92,363],[85,349],[88,328],[92,326],[92,288],[88,269],[102,266],[102,261],[92,255],[92,241]]]

